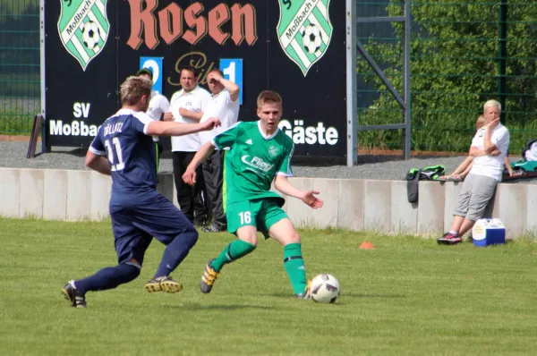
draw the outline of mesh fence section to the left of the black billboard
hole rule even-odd
[[[0,0],[0,134],[30,134],[39,57],[39,0]]]

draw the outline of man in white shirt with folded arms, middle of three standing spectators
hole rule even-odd
[[[183,89],[175,92],[171,99],[171,113],[166,113],[165,121],[178,123],[200,123],[204,107],[210,100],[209,91],[198,86],[198,71],[186,66],[181,69],[181,86]],[[205,225],[207,222],[207,208],[203,199],[205,184],[200,167],[196,174],[199,182],[191,187],[183,182],[183,174],[190,165],[192,158],[200,149],[198,133],[181,137],[172,137],[172,155],[174,164],[175,189],[177,202],[183,214],[194,225]]]

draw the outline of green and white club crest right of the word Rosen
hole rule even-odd
[[[333,26],[330,0],[278,0],[280,17],[277,38],[286,55],[304,77],[327,52]]]

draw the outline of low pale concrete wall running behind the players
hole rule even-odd
[[[320,191],[324,208],[298,199],[284,209],[298,226],[342,227],[381,233],[436,236],[448,230],[462,183],[420,182],[420,201],[406,199],[406,182],[291,178],[294,186]],[[90,171],[0,168],[0,216],[51,220],[100,220],[108,216],[111,180]],[[158,191],[175,205],[172,174],[160,174]],[[494,217],[507,236],[537,233],[537,185],[499,184]]]

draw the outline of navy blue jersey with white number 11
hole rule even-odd
[[[98,129],[90,151],[107,156],[112,171],[110,211],[130,207],[157,188],[155,142],[148,136],[153,120],[145,113],[121,109]]]

